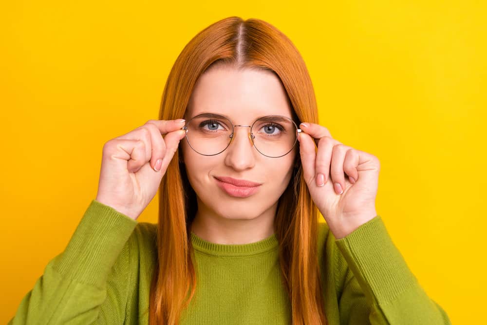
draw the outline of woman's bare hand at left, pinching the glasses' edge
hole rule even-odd
[[[181,130],[184,122],[149,120],[107,141],[96,201],[136,220],[157,193],[179,141],[186,134]]]

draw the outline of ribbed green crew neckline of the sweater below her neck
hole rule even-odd
[[[214,256],[250,256],[262,254],[279,247],[276,233],[249,244],[217,244],[208,242],[191,231],[191,242],[195,250]]]

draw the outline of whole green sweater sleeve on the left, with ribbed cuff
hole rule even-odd
[[[8,324],[122,324],[137,221],[93,200]]]

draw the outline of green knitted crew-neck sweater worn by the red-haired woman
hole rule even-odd
[[[379,215],[335,239],[319,224],[330,325],[451,324],[394,246]],[[148,324],[156,224],[93,200],[66,249],[44,269],[9,324]],[[197,288],[180,324],[291,324],[278,240],[223,245],[194,233]]]

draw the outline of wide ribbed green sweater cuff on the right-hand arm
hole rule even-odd
[[[335,243],[372,302],[385,304],[417,284],[380,215]]]

